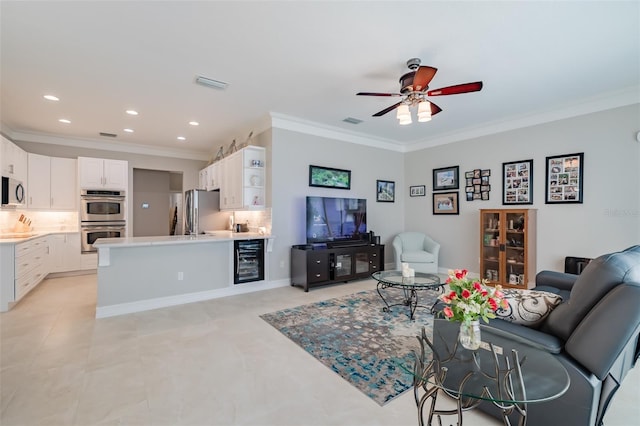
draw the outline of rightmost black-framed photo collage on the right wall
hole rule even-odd
[[[545,203],[582,203],[584,152],[546,158]]]

